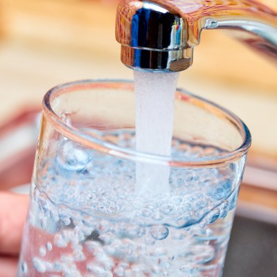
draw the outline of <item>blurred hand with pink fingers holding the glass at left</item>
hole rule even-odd
[[[0,277],[15,277],[28,196],[0,192]]]

